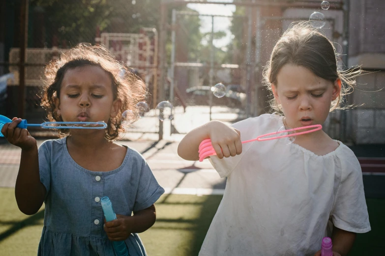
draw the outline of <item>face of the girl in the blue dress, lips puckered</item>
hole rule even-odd
[[[64,122],[108,122],[118,115],[120,101],[114,101],[112,81],[97,66],[69,69],[61,82],[57,113]]]

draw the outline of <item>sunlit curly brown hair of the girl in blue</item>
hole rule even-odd
[[[136,104],[145,100],[147,89],[141,79],[122,66],[102,46],[79,44],[61,53],[58,60],[51,61],[44,72],[45,86],[42,91],[41,106],[47,111],[47,118],[50,122],[62,122],[55,104],[55,99],[60,97],[61,82],[68,70],[84,66],[102,68],[111,78],[114,101],[120,99],[122,102],[118,115],[110,118],[107,124],[105,138],[114,140],[120,132],[124,131],[124,124],[121,123],[124,111],[129,110],[133,113],[133,115],[127,116],[129,120],[126,120],[126,123],[133,123],[137,120],[139,109]],[[60,137],[68,134],[70,134],[69,129],[59,129]]]

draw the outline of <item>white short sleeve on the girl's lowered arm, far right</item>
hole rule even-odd
[[[347,148],[347,147],[346,147]],[[350,151],[347,148],[347,151]],[[361,167],[353,152],[341,159],[341,182],[331,217],[335,227],[355,233],[371,230],[365,201]]]

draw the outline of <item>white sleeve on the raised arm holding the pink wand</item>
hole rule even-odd
[[[239,130],[241,141],[245,141],[254,139],[254,137],[257,136],[256,134],[259,132],[261,121],[262,116],[248,118],[233,124],[231,127]],[[222,159],[219,159],[216,155],[212,155],[210,156],[209,161],[221,178],[228,177],[254,143],[255,142],[242,144],[241,154],[237,154],[236,156],[223,157]]]

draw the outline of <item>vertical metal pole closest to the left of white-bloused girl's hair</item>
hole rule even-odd
[[[257,82],[255,83],[255,110],[254,110],[254,115],[258,116],[260,114],[259,111],[259,85],[261,82],[261,76],[260,76],[260,68],[261,68],[261,40],[262,40],[262,19],[261,19],[261,7],[257,6],[256,7],[256,31],[255,31],[255,64],[256,64],[256,69],[255,72],[257,74]]]

